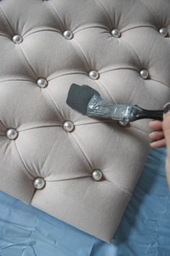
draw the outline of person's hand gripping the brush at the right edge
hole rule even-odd
[[[170,103],[164,106],[163,121],[150,121],[149,127],[154,130],[149,134],[150,139],[153,140],[150,143],[151,148],[166,146],[166,177],[170,187]]]

